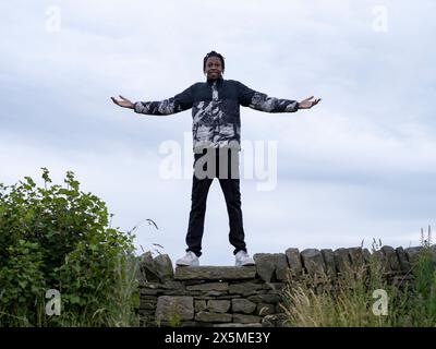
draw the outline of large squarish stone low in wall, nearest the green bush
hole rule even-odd
[[[180,320],[194,317],[194,299],[192,297],[160,296],[156,306],[157,321],[171,321],[174,316]]]

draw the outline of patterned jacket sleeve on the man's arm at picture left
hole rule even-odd
[[[191,86],[192,87],[192,86]],[[134,110],[137,113],[153,116],[169,116],[192,108],[192,88],[161,101],[136,101]]]

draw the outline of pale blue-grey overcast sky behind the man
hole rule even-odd
[[[296,113],[241,110],[249,147],[278,149],[274,190],[241,181],[251,254],[373,238],[407,248],[435,225],[434,1],[15,0],[0,12],[0,182],[74,171],[113,226],[156,221],[137,229],[138,253],[159,243],[173,262],[184,254],[192,179],[162,178],[159,146],[175,141],[189,167],[192,116],[140,116],[110,96],[169,98],[204,81],[210,50],[225,56],[225,79],[323,98]],[[214,181],[202,264],[234,263],[228,231]]]

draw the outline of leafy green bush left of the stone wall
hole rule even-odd
[[[108,227],[105,202],[80,190],[44,188],[32,178],[0,183],[0,325],[137,325],[134,237]],[[46,314],[46,291],[61,296],[61,314]]]

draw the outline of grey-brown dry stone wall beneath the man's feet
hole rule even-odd
[[[404,278],[422,248],[383,246],[375,252],[387,277]],[[168,255],[140,261],[142,326],[286,326],[281,292],[289,276],[327,275],[335,280],[350,267],[368,262],[366,249],[288,249],[257,253],[255,266],[175,267]],[[291,284],[292,285],[292,284]]]

